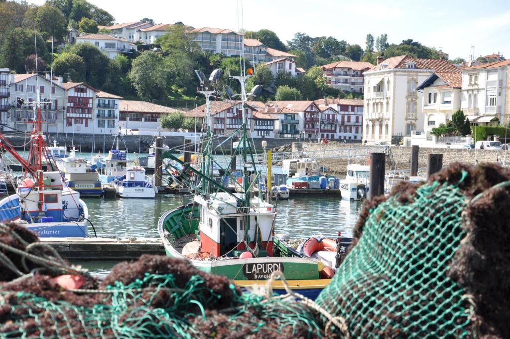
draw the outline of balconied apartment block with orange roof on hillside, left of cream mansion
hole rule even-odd
[[[346,92],[363,93],[363,72],[374,65],[360,61],[337,61],[322,66],[326,84]]]

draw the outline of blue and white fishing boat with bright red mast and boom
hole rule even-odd
[[[37,92],[39,98],[39,92]],[[43,158],[48,157],[46,141],[41,133],[41,104],[34,105],[34,129],[30,138],[28,160],[23,159],[7,138],[0,134],[0,147],[9,152],[24,168],[21,184],[14,195],[0,201],[0,220],[23,225],[40,237],[86,237],[88,210],[80,192],[69,189],[58,171],[44,172]]]

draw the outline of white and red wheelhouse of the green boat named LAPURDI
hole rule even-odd
[[[240,193],[233,193],[241,198]],[[240,214],[237,200],[229,193],[216,193],[212,199],[195,196],[195,203],[199,208],[199,237],[202,251],[220,257],[237,256],[238,252],[246,250],[245,246],[245,218]],[[271,256],[273,244],[273,219],[276,208],[259,198],[250,200],[248,244],[253,247],[260,245],[264,250],[259,256]],[[258,226],[258,227],[257,227]],[[237,250],[237,251],[236,251]]]

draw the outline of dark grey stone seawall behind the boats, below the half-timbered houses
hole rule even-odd
[[[19,133],[10,134],[5,133],[8,137],[9,142],[16,148],[22,148],[25,143],[29,141],[29,136],[19,136]],[[122,139],[125,142],[125,146],[129,152],[146,153],[150,144],[152,143],[151,135],[123,135]],[[184,143],[183,136],[162,136],[163,142],[170,148],[182,149]],[[122,139],[119,140],[119,148],[124,149],[124,142]],[[51,133],[47,139],[48,146],[53,144],[53,140],[56,140],[59,146],[71,147],[73,144],[82,152],[108,152],[112,149],[114,136],[106,134],[78,134],[74,135],[70,133]],[[214,141],[215,146],[222,143],[225,138],[216,138]],[[257,152],[262,152],[262,140],[267,141],[267,149],[280,147],[285,144],[292,142],[291,139],[276,139],[276,138],[254,138],[255,148]],[[230,141],[225,142],[217,150],[217,153],[230,154]]]

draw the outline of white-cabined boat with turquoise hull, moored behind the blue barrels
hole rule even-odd
[[[282,173],[287,175],[287,185],[292,186],[293,182],[312,182],[319,181],[321,177],[336,179],[335,176],[321,175],[324,173],[324,167],[319,166],[317,160],[310,158],[304,159],[285,159],[282,161]]]

